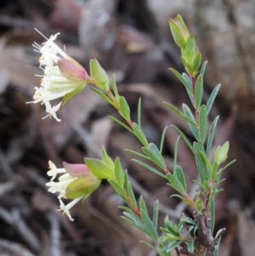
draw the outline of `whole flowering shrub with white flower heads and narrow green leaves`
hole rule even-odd
[[[178,196],[194,209],[193,218],[183,216],[178,224],[174,224],[166,216],[164,226],[160,227],[160,235],[158,231],[158,201],[155,202],[153,214],[150,217],[142,196],[140,196],[139,201],[134,196],[127,170],[123,170],[120,159],[117,157],[115,161],[112,161],[104,147],[100,160],[85,158],[85,164],[64,162],[64,168],[56,168],[53,162],[49,162],[50,171],[48,171],[48,176],[52,178],[46,185],[49,187],[49,192],[59,193],[60,210],[63,210],[69,219],[73,220],[70,213],[71,207],[88,198],[99,187],[101,180],[106,179],[116,193],[127,203],[127,206],[120,207],[123,210],[122,219],[150,236],[153,245],[147,242],[144,243],[153,248],[156,253],[167,256],[172,255],[171,252],[175,250],[177,255],[182,253],[188,256],[217,256],[219,242],[225,229],[218,230],[216,236],[213,236],[215,196],[221,191],[218,189],[218,185],[223,181],[221,179],[222,172],[234,162],[222,166],[227,158],[229,142],[225,142],[222,146],[218,145],[214,154],[211,151],[218,117],[214,119],[210,128],[208,128],[207,117],[220,85],[213,89],[207,104],[202,104],[203,77],[207,61],[201,65],[201,53],[195,44],[195,37],[190,34],[180,15],[176,19],[170,19],[169,25],[173,39],[180,48],[180,58],[186,73],[180,74],[171,68],[170,71],[183,83],[194,111],[191,111],[190,107],[185,104],[183,104],[183,111],[167,102],[164,104],[188,122],[191,133],[195,138],[195,141],[191,144],[185,134],[179,128],[173,126],[179,134],[174,150],[173,172],[167,169],[162,156],[167,128],[164,129],[161,135],[161,145],[157,146],[150,143],[141,128],[141,99],[138,103],[138,122],[133,122],[130,119],[127,100],[118,93],[115,77],[112,77],[110,87],[110,79],[97,60],[90,61],[90,76],[88,76],[82,65],[71,59],[70,56],[65,54],[65,51],[54,43],[58,34],[49,39],[46,38],[47,42],[42,47],[37,43],[34,44],[37,51],[42,54],[39,61],[40,67],[44,66],[42,68],[44,75],[42,76],[41,87],[36,88],[32,103],[42,102],[46,105],[48,116],[60,121],[56,112],[82,92],[88,83],[94,84],[97,87],[93,88],[94,92],[116,108],[116,111],[126,122],[122,122],[115,117],[111,117],[111,119],[126,128],[143,145],[143,154],[136,151],[130,152],[135,156],[153,162],[157,168],[153,168],[138,159],[133,161],[165,179],[168,182],[167,185],[172,186],[178,192],[173,196]],[[59,98],[62,98],[59,104],[51,106],[50,101]],[[178,141],[180,138],[184,139],[193,153],[200,176],[199,180],[195,180],[200,189],[194,195],[188,193],[184,170],[178,165]],[[54,179],[58,174],[61,174],[61,176],[59,181],[55,182]],[[73,201],[65,205],[62,198],[69,198]]]

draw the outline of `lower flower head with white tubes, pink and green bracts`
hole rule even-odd
[[[46,183],[49,187],[48,191],[51,193],[59,193],[59,207],[57,211],[63,211],[68,218],[71,218],[70,209],[80,200],[85,200],[90,196],[100,185],[101,179],[97,178],[91,173],[85,164],[70,164],[63,162],[64,168],[56,168],[53,162],[49,161],[48,176],[51,176],[50,182]],[[58,174],[59,181],[54,179]],[[65,205],[61,198],[73,199],[70,203]]]

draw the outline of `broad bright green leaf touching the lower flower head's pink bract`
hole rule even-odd
[[[91,172],[99,179],[114,179],[113,170],[105,163],[94,158],[84,158]]]

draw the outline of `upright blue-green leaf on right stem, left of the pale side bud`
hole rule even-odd
[[[195,150],[195,162],[198,167],[198,171],[201,177],[202,182],[204,180],[208,180],[207,174],[207,163],[205,162],[204,158],[201,156],[201,151],[204,151],[204,146],[201,142],[194,142],[193,148]]]

